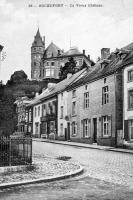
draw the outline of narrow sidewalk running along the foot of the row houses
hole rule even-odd
[[[133,150],[130,150],[130,149],[114,148],[114,147],[109,147],[109,146],[100,146],[100,145],[97,145],[96,143],[85,144],[85,143],[79,143],[79,142],[48,140],[48,139],[42,139],[42,138],[33,138],[33,141],[55,143],[55,144],[68,145],[68,146],[74,146],[74,147],[80,147],[80,148],[98,149],[98,150],[103,150],[103,151],[114,151],[114,152],[133,154]]]

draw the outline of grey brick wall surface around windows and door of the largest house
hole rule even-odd
[[[109,103],[102,105],[102,87],[109,87]],[[84,109],[84,92],[89,92],[89,108]],[[72,103],[76,101],[76,115],[72,116]],[[104,78],[99,79],[95,82],[87,84],[87,90],[85,90],[85,85],[76,88],[76,97],[72,98],[72,91],[69,91],[68,95],[68,113],[71,115],[71,122],[76,121],[77,123],[77,135],[72,137],[72,141],[92,143],[93,142],[93,118],[97,118],[97,143],[100,145],[114,146],[115,144],[115,76],[110,75],[106,77],[106,83],[104,83]],[[101,127],[101,116],[110,116],[110,126],[111,133],[109,137],[102,136]],[[90,135],[88,138],[83,138],[83,119],[90,119]]]

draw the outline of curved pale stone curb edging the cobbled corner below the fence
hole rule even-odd
[[[68,172],[68,173],[66,173],[64,175],[60,175],[60,176],[49,176],[49,177],[34,179],[34,180],[0,184],[0,189],[11,188],[11,187],[21,186],[21,185],[34,184],[34,183],[42,183],[42,182],[46,183],[46,182],[62,180],[62,179],[66,179],[66,178],[70,178],[70,177],[80,175],[83,172],[84,172],[84,169],[83,169],[83,167],[80,166],[80,169],[75,170],[74,172]]]

